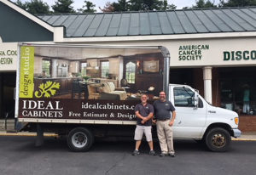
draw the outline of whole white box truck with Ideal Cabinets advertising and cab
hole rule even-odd
[[[187,85],[169,84],[165,47],[19,44],[15,117],[17,129],[67,136],[73,151],[86,151],[98,137],[132,137],[134,107],[164,90],[177,110],[174,138],[203,141],[225,151],[241,135],[238,115],[208,104]],[[155,134],[155,127],[153,127]]]

